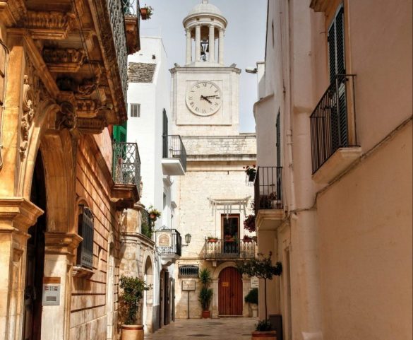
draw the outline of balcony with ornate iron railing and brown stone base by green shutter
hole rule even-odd
[[[119,209],[131,208],[139,201],[140,157],[138,144],[114,142],[112,177],[114,188],[112,201]]]

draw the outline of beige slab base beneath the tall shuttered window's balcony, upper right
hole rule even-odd
[[[339,148],[325,161],[323,165],[313,174],[313,181],[318,184],[328,184],[335,177],[347,170],[349,166],[361,156],[361,147],[352,146]]]

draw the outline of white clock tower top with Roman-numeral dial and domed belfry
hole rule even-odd
[[[241,70],[224,63],[227,19],[217,6],[202,0],[183,25],[186,63],[171,69],[174,134],[238,134]]]

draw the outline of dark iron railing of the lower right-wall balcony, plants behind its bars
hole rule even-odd
[[[254,209],[282,209],[282,167],[260,166],[254,182]]]

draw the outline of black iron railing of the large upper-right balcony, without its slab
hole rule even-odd
[[[349,80],[352,83],[351,88],[348,86]],[[351,98],[348,96],[349,93],[351,93]],[[349,103],[347,100],[352,102],[354,113],[351,117],[351,124],[354,126],[352,134],[350,134],[349,129]],[[330,84],[310,116],[313,173],[338,148],[356,146],[354,105],[354,74],[338,74],[335,76],[335,82]],[[352,143],[352,141],[354,142]]]

